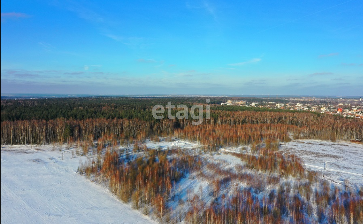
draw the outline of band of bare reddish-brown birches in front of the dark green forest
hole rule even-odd
[[[151,111],[148,113],[151,114]],[[192,119],[66,119],[56,118],[1,122],[1,144],[45,144],[97,140],[104,135],[118,141],[179,135],[199,140],[208,147],[260,142],[263,138],[288,140],[314,138],[350,140],[363,138],[360,119],[313,113],[218,111],[216,117],[192,125]]]

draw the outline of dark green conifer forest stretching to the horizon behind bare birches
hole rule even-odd
[[[227,97],[157,97],[157,98],[125,98],[125,97],[86,97],[86,98],[56,98],[56,99],[6,99],[1,100],[1,121],[17,120],[54,120],[56,118],[66,119],[140,119],[153,121],[152,107],[155,105],[166,105],[171,102],[177,106],[184,104],[191,108],[194,104],[207,104],[209,99],[212,115],[219,110],[227,111],[277,111],[267,108],[221,106],[220,103],[227,102]],[[249,102],[262,102],[261,98],[235,98]],[[275,100],[276,101],[276,100]],[[279,102],[285,102],[279,99]]]

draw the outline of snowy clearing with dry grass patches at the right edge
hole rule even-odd
[[[347,180],[363,185],[363,144],[303,139],[283,142],[280,150],[298,155],[307,169],[321,171],[324,178],[335,183]],[[324,162],[328,170],[324,170]]]

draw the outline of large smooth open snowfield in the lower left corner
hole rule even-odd
[[[76,174],[78,158],[52,146],[1,148],[1,224],[156,223]],[[85,160],[85,157],[82,158]]]

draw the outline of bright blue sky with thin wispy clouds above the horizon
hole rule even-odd
[[[1,93],[363,94],[363,1],[1,1]]]

